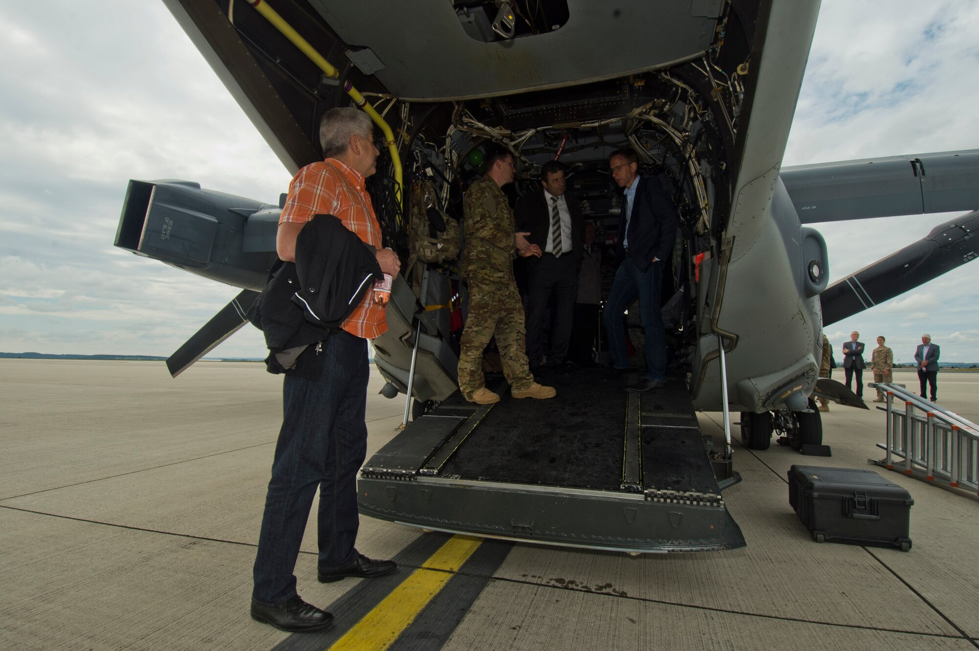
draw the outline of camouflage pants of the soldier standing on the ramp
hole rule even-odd
[[[511,391],[534,384],[527,364],[524,305],[513,281],[486,283],[469,280],[469,316],[459,344],[459,390],[467,399],[486,386],[483,350],[496,338],[503,375]]]

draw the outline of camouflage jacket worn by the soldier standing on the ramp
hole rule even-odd
[[[462,275],[483,282],[512,281],[517,251],[513,210],[496,181],[484,176],[469,186],[464,214]]]

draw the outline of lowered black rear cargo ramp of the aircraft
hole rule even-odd
[[[501,380],[495,404],[452,395],[367,461],[360,512],[631,552],[744,546],[715,476],[725,464],[712,462],[684,383],[632,395],[600,378],[591,369],[545,376],[558,392],[546,400],[513,398]]]

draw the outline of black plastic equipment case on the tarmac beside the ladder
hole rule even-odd
[[[792,466],[789,504],[816,542],[911,548],[905,488],[872,470]]]

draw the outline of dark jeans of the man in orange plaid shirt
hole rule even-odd
[[[282,429],[258,536],[252,596],[278,604],[296,595],[296,559],[319,489],[319,567],[356,558],[357,470],[367,452],[367,342],[331,333],[319,353],[318,381],[287,375]]]

